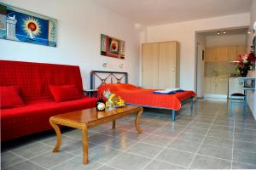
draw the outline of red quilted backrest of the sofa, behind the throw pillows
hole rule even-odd
[[[22,99],[49,99],[49,85],[75,84],[83,94],[79,66],[0,60],[0,86],[19,86]]]

